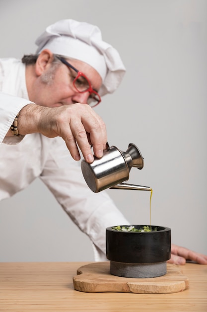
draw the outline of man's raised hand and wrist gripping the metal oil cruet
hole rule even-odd
[[[79,149],[87,162],[93,161],[91,145],[96,157],[103,156],[106,147],[106,126],[101,117],[85,104],[60,107],[25,106],[18,118],[19,134],[41,133],[48,138],[62,137],[75,160]]]

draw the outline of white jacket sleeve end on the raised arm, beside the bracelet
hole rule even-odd
[[[24,136],[5,136],[18,112],[30,103],[28,100],[0,92],[0,144],[14,145],[24,138]]]

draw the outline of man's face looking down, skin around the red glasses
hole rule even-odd
[[[102,79],[98,72],[90,65],[79,61],[69,60],[69,63],[81,71],[90,81],[92,88],[99,90]],[[74,103],[87,103],[89,92],[79,93],[75,90],[72,81],[75,72],[65,64],[50,63],[28,90],[29,99],[41,106],[58,107]],[[30,91],[30,92],[29,92]]]

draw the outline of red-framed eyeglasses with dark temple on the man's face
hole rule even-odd
[[[58,57],[58,59],[77,73],[76,77],[72,81],[72,84],[75,90],[79,93],[89,92],[87,104],[90,105],[91,107],[97,106],[101,102],[101,97],[98,94],[98,92],[92,88],[91,83],[88,80],[88,78],[83,73],[81,73],[76,68],[74,68],[64,58]]]

